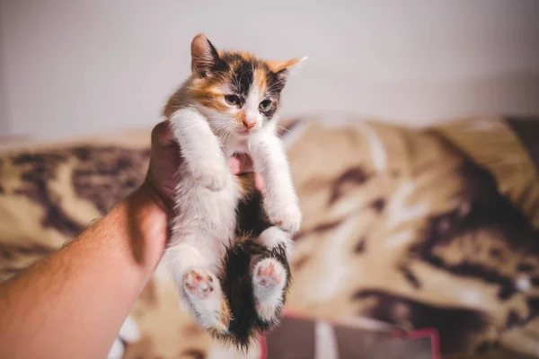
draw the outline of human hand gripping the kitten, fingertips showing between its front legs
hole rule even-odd
[[[150,165],[143,187],[146,187],[155,202],[166,212],[174,206],[174,192],[181,165],[180,145],[174,137],[169,123],[163,121],[152,131],[152,147],[150,150]],[[230,171],[234,174],[252,172],[252,160],[248,155],[233,156],[229,159]],[[255,185],[262,188],[261,177],[255,175]]]

